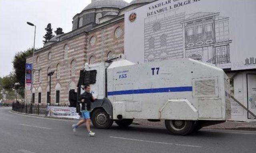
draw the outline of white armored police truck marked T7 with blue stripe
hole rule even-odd
[[[97,98],[91,112],[96,128],[110,128],[114,121],[127,127],[134,119],[165,120],[171,134],[186,135],[230,118],[229,78],[193,59],[85,65],[78,87],[85,84]]]

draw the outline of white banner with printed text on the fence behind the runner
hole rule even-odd
[[[73,107],[47,107],[47,116],[57,117],[57,118],[76,118],[79,119],[80,116],[76,113],[76,108]]]

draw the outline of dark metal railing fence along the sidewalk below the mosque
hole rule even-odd
[[[26,114],[46,114],[47,104],[20,104],[13,103],[12,110],[15,112],[26,113]],[[66,104],[51,104],[51,106],[68,107]]]

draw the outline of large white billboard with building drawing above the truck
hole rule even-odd
[[[158,0],[125,14],[124,53],[135,63],[189,57],[256,69],[256,0]]]

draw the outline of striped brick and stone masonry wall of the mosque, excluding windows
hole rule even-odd
[[[122,36],[115,37],[117,27],[122,28]],[[95,45],[90,45],[90,38],[96,37]],[[64,59],[64,46],[68,45],[68,58]],[[46,48],[34,55],[33,69],[34,81],[31,90],[25,90],[26,102],[32,101],[32,93],[35,93],[35,103],[38,103],[38,93],[41,92],[41,103],[46,103],[46,93],[49,91],[48,68],[55,71],[51,79],[51,103],[56,101],[56,90],[60,90],[60,104],[68,104],[70,89],[76,90],[79,72],[89,63],[94,56],[96,63],[107,60],[109,52],[114,54],[124,53],[124,20],[108,24],[94,29],[88,33],[81,33],[64,41],[60,41],[50,48]],[[51,59],[48,55],[51,53]],[[37,60],[37,59],[40,60]],[[33,57],[28,57],[26,63],[32,63]],[[75,75],[71,75],[71,63],[76,61]],[[60,77],[57,78],[57,65],[60,65]],[[40,73],[40,75],[39,75]],[[40,79],[39,79],[40,78]]]

